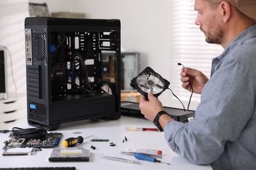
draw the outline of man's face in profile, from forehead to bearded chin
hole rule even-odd
[[[195,10],[198,11],[196,25],[205,35],[205,41],[212,44],[221,44],[224,32],[217,20],[217,9],[210,7],[207,1],[195,0]]]

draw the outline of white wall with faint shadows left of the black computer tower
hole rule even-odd
[[[4,0],[0,1],[0,46],[6,46],[10,53],[7,63],[9,65],[8,90],[14,92],[12,70],[16,82],[17,92],[26,92],[26,63],[25,63],[25,40],[24,18],[28,16],[28,0]]]

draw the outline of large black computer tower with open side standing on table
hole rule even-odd
[[[30,126],[120,118],[120,27],[119,20],[25,19]],[[112,77],[103,74],[105,52],[114,54]]]

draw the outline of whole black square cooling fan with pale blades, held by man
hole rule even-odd
[[[148,92],[152,91],[155,97],[158,97],[165,91],[170,82],[162,78],[150,67],[146,67],[144,71],[131,80],[131,86],[140,94],[148,97]]]

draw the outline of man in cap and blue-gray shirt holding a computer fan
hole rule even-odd
[[[224,48],[212,61],[210,79],[196,69],[181,71],[182,87],[201,94],[194,119],[173,120],[152,92],[141,97],[140,110],[186,160],[256,169],[256,0],[195,0],[194,8],[205,41]]]

